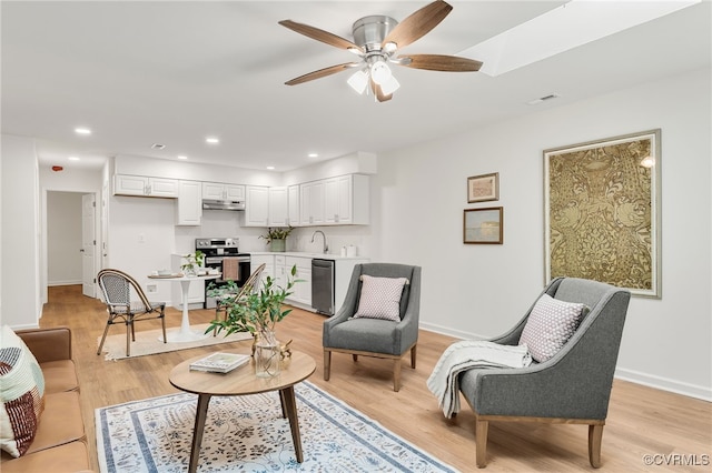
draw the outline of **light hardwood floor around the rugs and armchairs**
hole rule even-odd
[[[195,310],[190,312],[190,321],[206,323],[214,313],[211,310]],[[387,360],[360,356],[354,363],[349,355],[334,353],[332,378],[325,382],[323,321],[322,315],[295,310],[277,328],[281,341],[294,340],[291,346],[295,350],[316,360],[317,370],[310,382],[459,471],[477,471],[474,416],[466,402],[463,401],[463,411],[456,419],[446,420],[425,385],[453,338],[421,331],[417,369],[412,370],[408,360],[404,359],[402,388],[396,393],[393,391],[392,364]],[[105,361],[103,356],[96,354],[97,338],[105,324],[105,305],[81,295],[80,286],[50,288],[40,326],[68,325],[72,329],[82,413],[91,461],[97,471],[95,409],[175,393],[177,390],[168,383],[172,366],[216,350],[216,346],[210,346]],[[180,325],[178,311],[167,310],[167,325]],[[136,326],[137,330],[158,329],[160,323],[147,321]],[[117,325],[109,333],[122,333],[122,325]],[[239,345],[233,343],[229,348]],[[603,431],[603,465],[600,471],[708,472],[712,454],[711,426],[711,403],[616,380]],[[645,455],[657,455],[653,457],[656,464],[646,465]],[[705,459],[708,464],[703,465]],[[492,422],[487,461],[484,472],[593,470],[587,457],[587,427],[583,425]]]

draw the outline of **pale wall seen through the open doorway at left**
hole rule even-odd
[[[81,193],[47,197],[47,282],[81,284]]]

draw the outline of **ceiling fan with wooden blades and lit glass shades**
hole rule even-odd
[[[400,23],[386,16],[365,17],[356,20],[352,28],[354,41],[308,24],[283,20],[279,22],[283,27],[335,48],[346,49],[360,58],[355,62],[345,62],[299,76],[285,84],[296,85],[347,69],[357,69],[348,79],[348,84],[359,93],[364,93],[370,84],[375,98],[379,102],[385,102],[393,98],[393,92],[399,87],[388,64],[431,71],[476,72],[482,67],[482,62],[456,56],[404,54],[396,57],[399,49],[424,37],[439,24],[452,9],[453,7],[448,3],[436,0],[412,13]]]

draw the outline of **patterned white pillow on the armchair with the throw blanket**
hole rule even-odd
[[[584,304],[564,302],[542,294],[526,320],[520,345],[526,344],[532,359],[540,363],[548,360],[574,334],[585,309]]]

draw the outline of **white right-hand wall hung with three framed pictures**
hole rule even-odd
[[[544,285],[542,151],[661,128],[663,296],[632,299],[617,375],[712,400],[710,83],[705,69],[379,155],[374,256],[423,266],[423,326],[497,335]],[[500,201],[467,204],[466,178],[490,172]],[[463,209],[498,205],[504,244],[463,244]]]

